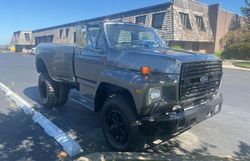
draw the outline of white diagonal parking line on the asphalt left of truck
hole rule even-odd
[[[70,136],[59,129],[41,113],[35,111],[34,108],[32,108],[32,105],[30,105],[28,102],[26,102],[1,82],[0,90],[3,91],[6,96],[9,97],[11,101],[13,101],[17,105],[17,107],[22,109],[26,115],[32,116],[32,120],[38,123],[49,136],[53,137],[60,145],[62,145],[63,150],[70,156],[75,156],[83,152],[81,146],[76,143]]]

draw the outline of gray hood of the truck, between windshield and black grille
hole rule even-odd
[[[199,54],[171,49],[112,49],[108,64],[120,68],[140,70],[150,66],[152,72],[180,74],[181,64],[198,61],[220,61],[212,54]]]

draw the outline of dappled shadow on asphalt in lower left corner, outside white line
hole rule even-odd
[[[0,106],[0,160],[59,160],[57,143],[30,117],[7,100]]]

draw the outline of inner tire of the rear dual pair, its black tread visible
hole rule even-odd
[[[68,101],[69,86],[64,83],[60,83],[57,93],[57,103],[56,106],[62,106]]]

